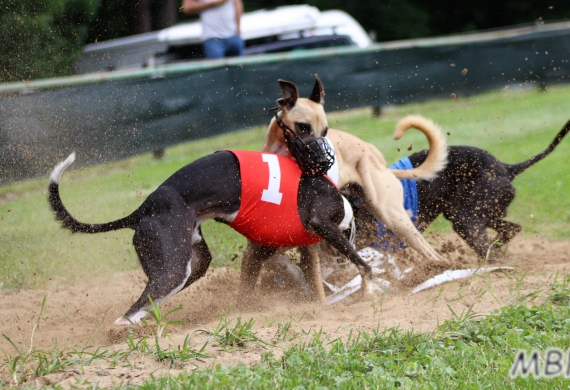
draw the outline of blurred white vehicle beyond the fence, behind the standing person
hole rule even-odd
[[[76,73],[133,69],[203,58],[200,22],[86,45]],[[319,11],[309,5],[247,12],[241,35],[245,55],[334,46],[367,47],[372,40],[346,12]]]

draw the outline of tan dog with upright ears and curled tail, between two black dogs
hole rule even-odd
[[[403,190],[399,182],[402,179],[429,180],[436,177],[447,163],[447,144],[442,132],[430,120],[420,116],[408,116],[396,127],[395,139],[399,139],[409,128],[416,128],[428,139],[429,152],[423,164],[407,171],[391,170],[387,167],[382,153],[373,145],[348,133],[329,129],[324,111],[324,89],[321,80],[317,81],[308,99],[299,98],[295,84],[279,81],[283,98],[277,103],[280,119],[296,134],[304,139],[327,136],[335,150],[338,162],[338,187],[354,183],[364,190],[366,201],[370,204],[374,217],[382,221],[409,246],[428,259],[443,258],[428,244],[414,227],[410,216],[403,207]],[[291,157],[283,137],[283,129],[274,118],[269,124],[262,151]],[[244,293],[255,287],[261,262],[256,255],[255,244],[248,242],[241,271],[241,283]],[[301,268],[308,276],[309,283],[318,300],[326,303],[320,277],[320,264],[317,251],[312,247],[301,248]]]

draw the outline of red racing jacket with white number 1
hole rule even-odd
[[[241,203],[229,226],[264,246],[304,246],[322,240],[309,234],[299,218],[302,172],[294,160],[272,153],[230,152],[239,161]]]

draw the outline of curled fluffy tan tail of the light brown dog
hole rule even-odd
[[[428,155],[418,167],[409,170],[391,171],[399,179],[430,180],[437,177],[447,165],[447,142],[441,128],[432,120],[420,115],[408,115],[396,125],[394,139],[400,139],[408,129],[417,129],[425,134],[429,144]]]

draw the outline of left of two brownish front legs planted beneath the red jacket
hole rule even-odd
[[[263,262],[273,256],[277,249],[248,240],[241,260],[240,296],[244,303],[247,303],[246,301],[255,290]]]

